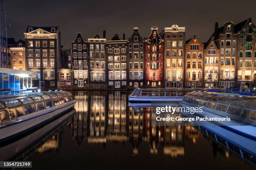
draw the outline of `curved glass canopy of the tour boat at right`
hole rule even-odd
[[[256,121],[256,100],[243,96],[188,92],[184,95],[183,101]]]

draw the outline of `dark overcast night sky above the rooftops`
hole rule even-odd
[[[138,27],[147,37],[152,26],[161,31],[173,24],[186,27],[186,39],[196,34],[205,42],[215,22],[222,26],[251,17],[256,23],[255,8],[256,0],[6,0],[8,37],[24,39],[27,25],[59,26],[64,48],[70,48],[77,32],[87,39],[106,30],[110,40],[114,33],[122,37],[125,32],[127,38]]]

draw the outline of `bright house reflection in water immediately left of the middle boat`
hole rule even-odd
[[[127,94],[120,91],[108,94],[107,140],[126,141],[126,100]]]

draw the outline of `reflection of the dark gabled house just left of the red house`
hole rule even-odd
[[[138,154],[138,146],[143,137],[143,108],[129,107],[128,135],[133,145],[133,154]]]

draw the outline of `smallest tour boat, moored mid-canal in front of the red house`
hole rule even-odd
[[[181,101],[186,92],[177,89],[135,89],[128,100],[130,103],[151,104],[153,102]]]

